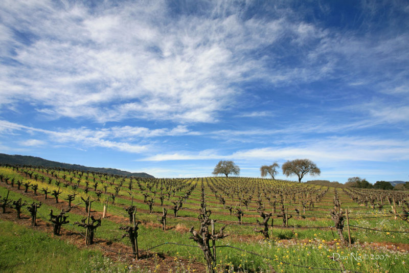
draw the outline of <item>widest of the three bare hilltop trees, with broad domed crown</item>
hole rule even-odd
[[[287,161],[281,166],[283,174],[286,176],[297,175],[298,181],[301,183],[304,175],[307,173],[311,176],[320,175],[321,170],[308,159]]]

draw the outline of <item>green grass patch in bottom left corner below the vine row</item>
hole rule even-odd
[[[98,251],[0,220],[1,272],[129,272]]]

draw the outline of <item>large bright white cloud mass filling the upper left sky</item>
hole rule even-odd
[[[14,16],[7,16],[5,25],[27,28],[35,38],[20,42],[10,56],[22,66],[8,67],[1,79],[3,103],[26,98],[55,118],[99,122],[217,120],[216,112],[236,93],[229,85],[261,65],[246,61],[234,48],[237,39],[246,38],[242,30],[253,33],[261,25],[235,16],[181,17],[166,25],[158,21],[166,21],[163,6],[127,3],[101,14],[90,14],[79,4],[70,9],[51,3],[5,8]],[[246,42],[246,47],[258,45]]]

